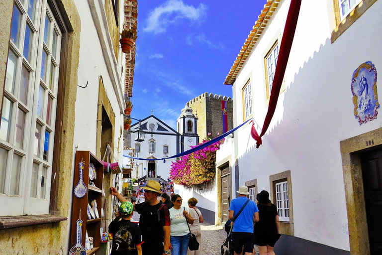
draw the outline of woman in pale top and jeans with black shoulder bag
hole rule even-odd
[[[178,194],[171,198],[174,207],[170,211],[170,247],[172,255],[187,255],[189,247],[189,227],[193,224],[193,218],[189,209],[182,206],[182,197]]]

